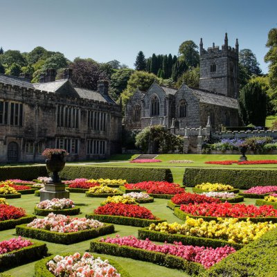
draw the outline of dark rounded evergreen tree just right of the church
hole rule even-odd
[[[240,91],[238,102],[244,125],[265,126],[267,95],[259,82],[249,82]]]

